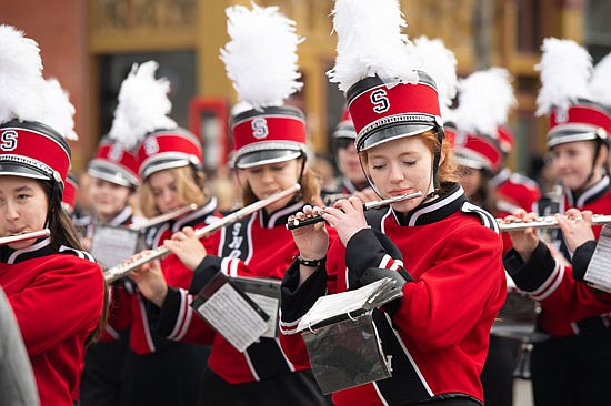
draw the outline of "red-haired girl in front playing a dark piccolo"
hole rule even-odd
[[[505,297],[502,243],[493,217],[452,182],[438,90],[417,71],[398,35],[402,26],[395,1],[335,1],[331,80],[347,91],[371,186],[381,197],[414,191],[423,196],[364,215],[358,199],[337,202],[322,214],[339,235],[331,244],[315,225],[293,231],[301,263],[291,265],[282,283],[281,343],[290,359],[307,365],[297,322],[320,295],[371,282],[363,275],[374,268],[403,292],[373,312],[392,376],[337,392],[334,404],[482,405],[480,373]],[[445,68],[454,67],[455,60]],[[442,82],[443,75],[435,78]],[[303,214],[312,211],[304,207]]]

